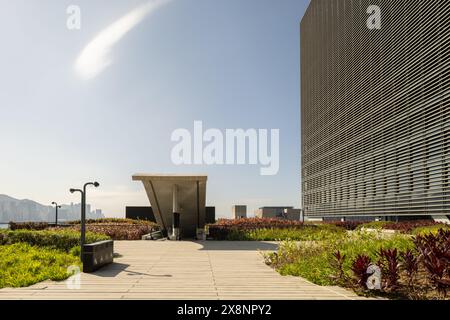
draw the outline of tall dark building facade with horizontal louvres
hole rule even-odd
[[[380,9],[369,28],[368,8]],[[306,217],[450,215],[448,1],[312,0],[301,21]]]

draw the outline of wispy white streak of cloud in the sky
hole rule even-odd
[[[171,0],[151,0],[127,13],[102,30],[81,51],[75,62],[76,72],[84,79],[90,79],[102,72],[113,62],[112,47],[150,13]]]

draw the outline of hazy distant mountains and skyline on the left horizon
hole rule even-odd
[[[81,204],[61,205],[58,211],[58,220],[78,220],[81,216]],[[86,205],[86,216],[90,219],[103,218],[101,210],[91,212],[91,206]],[[0,223],[9,221],[50,221],[55,220],[55,208],[45,206],[28,199],[15,199],[0,194]]]

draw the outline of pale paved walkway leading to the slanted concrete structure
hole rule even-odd
[[[339,287],[284,277],[264,264],[258,250],[273,242],[115,241],[120,256],[81,288],[45,281],[0,289],[0,299],[358,299]]]

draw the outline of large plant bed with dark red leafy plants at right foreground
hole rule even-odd
[[[264,254],[266,263],[283,275],[403,299],[445,299],[449,256],[450,230],[445,229],[418,236],[357,231],[320,242],[289,240],[277,252]],[[377,268],[380,278],[372,277]],[[379,289],[376,279],[381,279]]]

